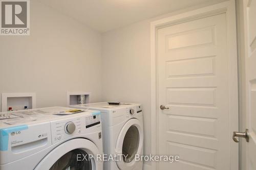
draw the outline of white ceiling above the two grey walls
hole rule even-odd
[[[222,0],[39,0],[42,4],[106,32],[190,6]],[[223,0],[224,1],[224,0]]]

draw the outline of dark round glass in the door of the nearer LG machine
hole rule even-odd
[[[77,155],[82,155],[82,160],[77,161]],[[87,152],[75,149],[60,157],[49,170],[91,170],[92,162]]]

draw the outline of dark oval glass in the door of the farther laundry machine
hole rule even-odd
[[[140,134],[136,126],[131,126],[123,139],[122,154],[125,163],[131,162],[137,154],[140,143]]]

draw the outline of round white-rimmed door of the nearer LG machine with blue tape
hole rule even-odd
[[[89,159],[89,154],[93,156],[92,159]],[[35,170],[102,170],[102,162],[94,159],[97,154],[102,153],[92,141],[84,138],[71,139],[53,149]]]

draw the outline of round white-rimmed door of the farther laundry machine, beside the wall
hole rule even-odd
[[[120,169],[132,169],[136,166],[135,155],[143,154],[143,127],[136,118],[130,119],[121,129],[116,151],[122,154],[122,160],[118,160],[117,165]]]

